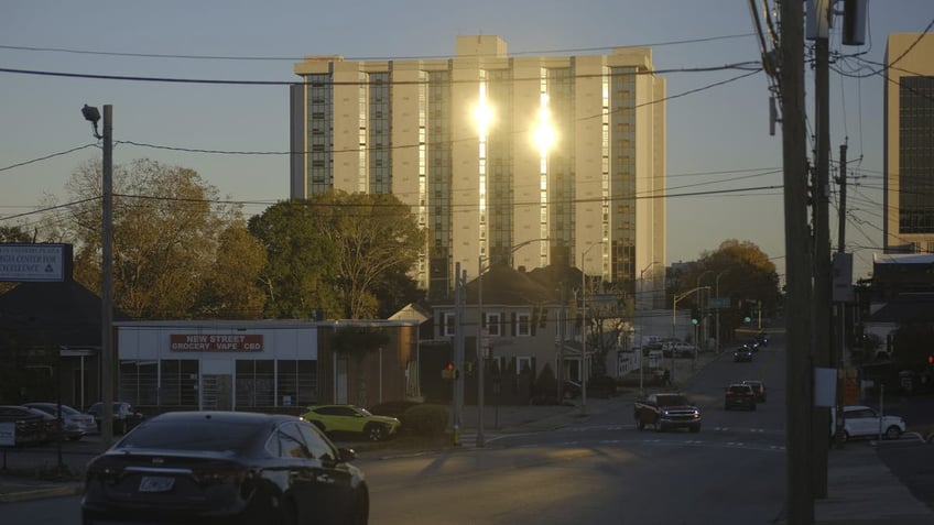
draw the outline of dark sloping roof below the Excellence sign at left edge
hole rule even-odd
[[[115,321],[128,319],[115,309]],[[56,347],[99,348],[100,297],[70,280],[20,283],[0,295],[0,329],[22,330]]]

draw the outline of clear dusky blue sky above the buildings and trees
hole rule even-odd
[[[862,46],[840,45],[835,20],[830,158],[836,166],[847,143],[846,247],[855,277],[871,273],[882,247],[886,79],[872,63],[884,62],[888,34],[920,33],[932,20],[931,0],[868,0]],[[113,107],[115,164],[151,158],[195,169],[221,196],[245,203],[247,217],[259,215],[289,198],[284,83],[298,80],[296,62],[325,54],[449,57],[456,36],[475,34],[499,35],[511,55],[651,47],[670,97],[666,262],[693,261],[737,239],[758,244],[783,276],[781,129],[769,133],[767,76],[685,70],[760,63],[742,0],[3,0],[0,226],[31,230],[48,196],[64,203],[72,173],[100,158],[80,113],[85,103]],[[808,72],[808,112],[813,86]],[[832,194],[836,249],[836,187]]]

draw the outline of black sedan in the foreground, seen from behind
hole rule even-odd
[[[166,413],[88,463],[82,523],[362,525],[355,457],[294,416]]]

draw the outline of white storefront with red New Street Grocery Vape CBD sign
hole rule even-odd
[[[164,409],[274,409],[316,403],[314,321],[115,322],[119,398]]]

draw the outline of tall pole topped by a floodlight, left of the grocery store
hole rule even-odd
[[[101,283],[100,283],[100,401],[104,413],[100,416],[100,435],[104,448],[110,447],[113,439],[113,111],[112,106],[104,105],[104,135],[97,132],[100,111],[85,105],[82,114],[94,127],[94,136],[104,141],[104,164],[101,165],[100,188],[102,194],[102,217],[100,227]]]

